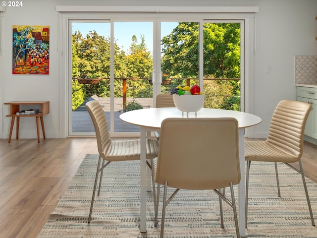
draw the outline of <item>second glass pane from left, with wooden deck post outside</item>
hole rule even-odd
[[[119,115],[153,107],[153,22],[115,22],[114,39],[114,131],[140,131]]]

